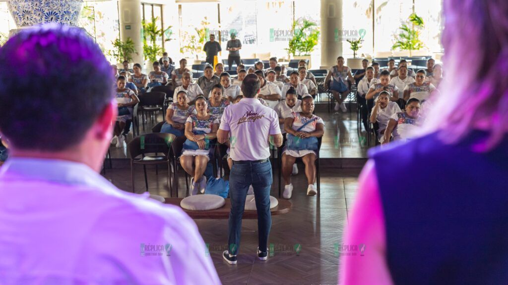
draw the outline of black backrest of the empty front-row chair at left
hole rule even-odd
[[[134,159],[147,153],[163,153],[168,157],[174,140],[175,135],[171,133],[147,133],[137,136],[127,144],[129,157]]]

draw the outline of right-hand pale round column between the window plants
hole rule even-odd
[[[330,67],[342,55],[342,0],[321,0],[321,66]],[[337,34],[337,32],[339,34]]]

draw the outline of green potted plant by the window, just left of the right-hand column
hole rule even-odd
[[[288,54],[293,59],[308,59],[319,40],[319,26],[317,23],[300,18],[293,22],[293,38],[289,41]]]

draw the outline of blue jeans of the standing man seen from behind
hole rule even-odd
[[[250,162],[246,164],[233,163],[229,179],[231,212],[229,214],[228,228],[229,252],[232,255],[236,255],[240,247],[242,215],[250,185],[254,188],[256,208],[258,209],[259,249],[265,252],[267,248],[268,235],[272,227],[272,215],[270,213],[272,165],[270,161],[263,163]]]

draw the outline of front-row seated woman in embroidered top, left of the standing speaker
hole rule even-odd
[[[213,150],[210,140],[216,138],[219,120],[208,114],[206,98],[200,96],[196,99],[197,114],[190,115],[185,122],[185,137],[180,164],[185,172],[193,178],[190,180],[190,194],[205,193],[206,176],[203,174],[210,160],[209,154]],[[196,146],[197,145],[197,146]],[[193,147],[195,146],[195,147]]]

